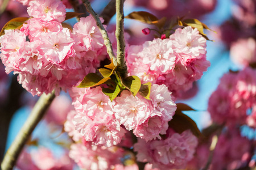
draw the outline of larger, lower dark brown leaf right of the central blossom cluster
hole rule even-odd
[[[176,111],[174,117],[172,117],[172,120],[168,124],[177,133],[181,134],[183,131],[190,129],[196,137],[202,136],[196,123],[186,114],[181,113],[181,111]]]

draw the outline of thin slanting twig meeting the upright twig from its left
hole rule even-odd
[[[113,59],[114,65],[117,66],[117,59],[115,58],[112,44],[109,40],[108,32],[106,31],[103,24],[101,23],[101,20],[100,20],[98,14],[96,14],[96,12],[93,10],[92,6],[90,6],[90,2],[88,0],[82,0],[82,3],[84,3],[86,10],[90,13],[90,15],[93,16],[94,20],[96,20],[97,27],[100,29],[101,35],[104,39],[104,44],[106,45],[106,49],[109,54],[109,57],[111,59]]]

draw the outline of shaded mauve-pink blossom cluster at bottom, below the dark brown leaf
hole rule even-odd
[[[186,130],[181,134],[169,132],[168,137],[161,141],[146,143],[139,139],[134,150],[138,152],[137,160],[151,163],[152,168],[180,169],[193,158],[197,143],[197,138]]]

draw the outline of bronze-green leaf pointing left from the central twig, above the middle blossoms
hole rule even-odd
[[[89,73],[85,76],[84,80],[82,80],[82,82],[77,87],[94,87],[100,84],[104,84],[109,79],[110,77],[102,78],[96,73]]]

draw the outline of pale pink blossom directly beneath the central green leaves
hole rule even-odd
[[[127,130],[143,124],[152,113],[150,101],[140,95],[133,96],[130,91],[122,91],[121,96],[114,101],[115,117]]]

